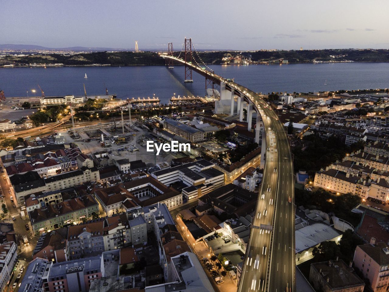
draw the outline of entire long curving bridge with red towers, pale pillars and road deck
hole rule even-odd
[[[255,141],[259,143],[262,128],[264,171],[238,292],[296,291],[293,160],[284,126],[261,95],[215,74],[201,60],[192,39],[185,38],[179,52],[173,52],[170,43],[167,53],[161,57],[170,69],[174,64],[184,65],[184,82],[193,82],[194,71],[205,77],[206,90],[219,88],[220,99],[231,102],[230,116],[236,114],[243,121],[243,109],[246,109],[248,131],[252,130],[253,113],[256,113]]]

